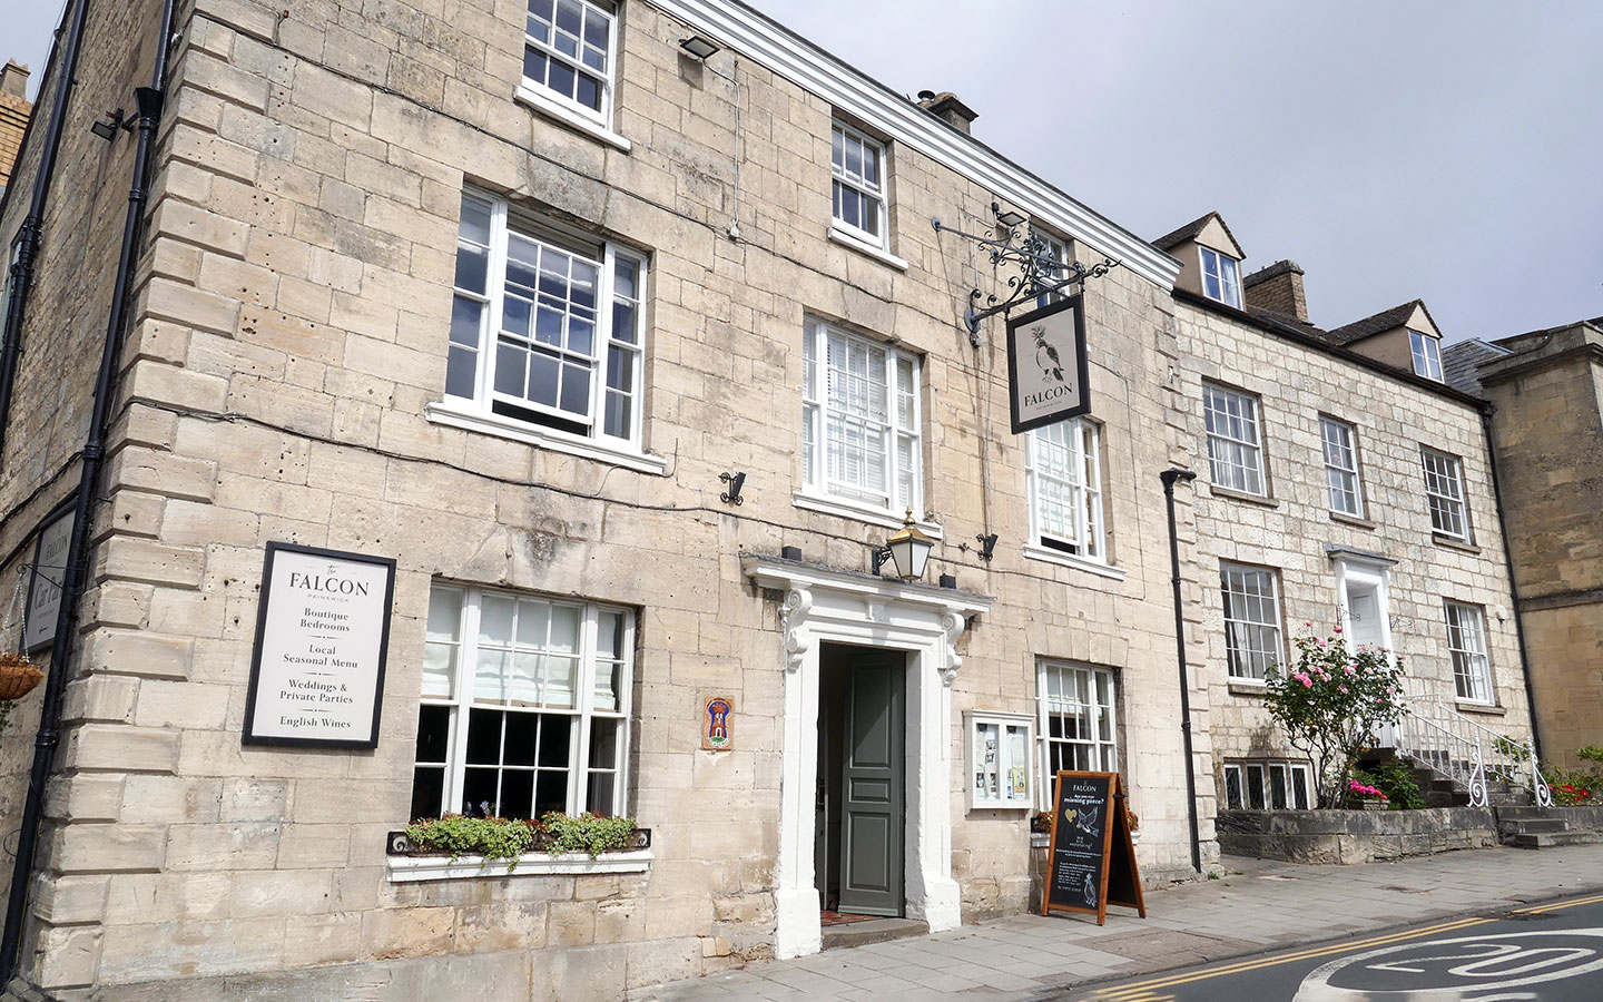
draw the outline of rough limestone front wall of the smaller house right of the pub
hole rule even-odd
[[[1335,566],[1326,547],[1382,555],[1390,566],[1391,638],[1411,693],[1454,701],[1443,600],[1484,606],[1496,710],[1476,720],[1518,741],[1529,736],[1504,539],[1476,407],[1401,378],[1345,364],[1220,313],[1181,305],[1183,375],[1193,415],[1197,532],[1202,555],[1205,673],[1218,765],[1225,758],[1295,758],[1260,699],[1228,681],[1218,561],[1274,568],[1287,641],[1303,624],[1321,636],[1340,624]],[[1209,484],[1202,380],[1258,394],[1268,457],[1268,502],[1217,494]],[[1356,426],[1366,519],[1329,513],[1319,415]],[[1420,446],[1462,457],[1473,547],[1433,542]],[[1287,643],[1287,657],[1294,656]],[[1215,778],[1223,789],[1223,773]]]

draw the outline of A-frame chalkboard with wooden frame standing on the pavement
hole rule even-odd
[[[1145,919],[1146,901],[1119,773],[1058,773],[1052,803],[1040,914],[1090,912],[1096,925],[1103,925],[1108,906],[1122,904]]]

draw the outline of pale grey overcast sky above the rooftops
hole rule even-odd
[[[1218,210],[1324,327],[1603,314],[1603,3],[753,0],[1143,237]],[[293,0],[287,0],[293,6]],[[43,72],[61,0],[0,0]]]

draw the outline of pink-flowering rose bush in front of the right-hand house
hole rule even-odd
[[[1294,643],[1297,662],[1265,675],[1265,705],[1292,745],[1308,754],[1319,806],[1339,808],[1348,795],[1353,757],[1375,742],[1380,728],[1407,713],[1398,686],[1403,659],[1367,644],[1348,651],[1340,627],[1335,636],[1310,632]]]

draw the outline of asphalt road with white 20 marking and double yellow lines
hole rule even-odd
[[[1600,1002],[1603,895],[1082,988],[1055,1002]]]

